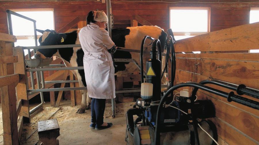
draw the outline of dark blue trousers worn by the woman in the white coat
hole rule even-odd
[[[91,102],[91,122],[96,123],[97,125],[103,124],[103,114],[105,109],[106,99],[96,99],[92,98]]]

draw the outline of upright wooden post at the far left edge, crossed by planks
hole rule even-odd
[[[12,43],[10,42],[16,42],[15,36],[0,33],[0,56],[13,55]],[[14,74],[14,63],[0,64],[0,75],[10,74]],[[0,90],[3,113],[3,143],[19,144],[15,84],[1,87]]]

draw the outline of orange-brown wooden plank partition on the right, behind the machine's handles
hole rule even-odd
[[[174,84],[199,83],[205,79],[220,79],[259,89],[259,53],[218,53],[259,48],[259,22],[210,32],[179,40],[176,52],[201,51],[201,54],[176,54]],[[215,51],[218,51],[215,53]],[[227,93],[232,90],[206,85]],[[181,88],[183,89],[183,88]],[[177,90],[179,92],[181,89]],[[186,87],[190,92],[191,87]],[[234,91],[235,92],[235,91]],[[235,92],[237,95],[237,93]],[[210,118],[217,127],[219,138],[227,144],[259,144],[259,111],[226,98],[199,90],[198,99],[209,99],[215,106],[216,117]],[[248,99],[258,101],[250,96]]]

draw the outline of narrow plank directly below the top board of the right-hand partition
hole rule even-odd
[[[176,58],[207,58],[220,60],[259,61],[259,53],[200,53],[176,54]]]

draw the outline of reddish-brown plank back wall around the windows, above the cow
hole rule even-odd
[[[117,2],[112,3],[112,10],[116,19],[115,27],[130,26],[130,21],[127,19],[132,19],[133,15],[140,15],[153,25],[168,29],[169,7],[211,7],[210,30],[215,31],[249,23],[250,7],[259,7],[259,3]],[[90,10],[106,11],[106,4],[93,1],[0,2],[0,32],[8,32],[6,9],[46,8],[54,8],[55,30],[59,30],[77,16],[85,19]]]

